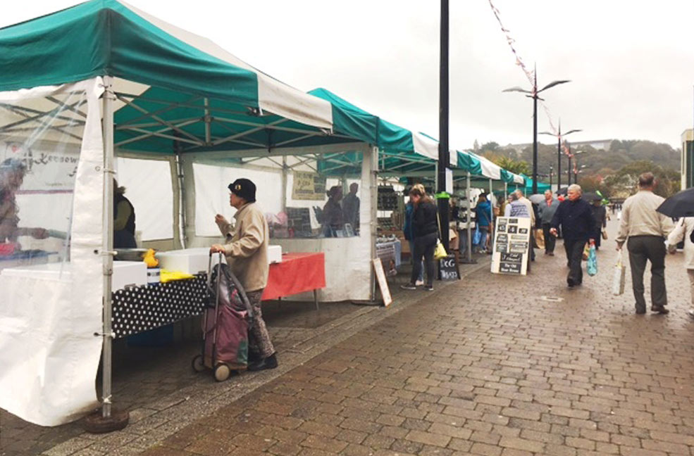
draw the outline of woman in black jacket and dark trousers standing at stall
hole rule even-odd
[[[416,279],[421,270],[421,259],[424,258],[426,266],[426,284],[424,289],[433,291],[434,283],[434,249],[438,239],[438,219],[436,205],[419,187],[414,187],[409,192],[409,198],[414,203],[414,217],[412,227],[414,232],[414,265],[409,284],[403,285],[406,290],[416,289]]]

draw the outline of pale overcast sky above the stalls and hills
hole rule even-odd
[[[554,124],[583,139],[680,146],[694,123],[694,1],[493,0],[545,92]],[[4,2],[0,25],[74,0]],[[435,0],[130,0],[204,35],[273,77],[325,87],[403,127],[438,136]],[[488,0],[450,1],[450,144],[532,141],[532,101],[502,93],[530,84]],[[539,131],[549,130],[544,110]],[[540,141],[552,143],[550,137]]]

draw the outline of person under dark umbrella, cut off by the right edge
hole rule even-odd
[[[680,191],[667,198],[657,211],[668,217],[679,218],[675,229],[667,236],[667,250],[676,253],[677,244],[684,241],[684,268],[689,276],[692,308],[688,311],[694,317],[694,188]]]

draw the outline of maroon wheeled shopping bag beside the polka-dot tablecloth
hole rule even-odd
[[[232,372],[248,366],[248,327],[253,309],[240,281],[228,265],[212,267],[210,253],[207,268],[207,299],[202,317],[202,354],[192,360],[195,372],[212,369],[217,381],[225,381]]]

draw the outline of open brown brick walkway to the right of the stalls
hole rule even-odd
[[[667,262],[671,314],[637,316],[629,290],[609,294],[612,245],[578,289],[559,245],[531,276],[485,268],[399,312],[364,309],[341,341],[287,350],[284,368],[175,391],[124,431],[43,454],[694,455],[681,255]]]

